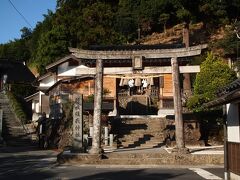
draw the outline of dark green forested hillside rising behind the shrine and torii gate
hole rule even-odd
[[[55,13],[49,11],[34,29],[23,27],[21,39],[0,45],[0,58],[27,61],[41,74],[47,64],[68,54],[68,47],[142,43],[139,30],[142,39],[156,33],[169,38],[174,32],[167,29],[197,23],[204,34],[199,37],[205,39],[196,42],[209,41],[222,29],[221,40],[212,46],[225,49],[222,55],[237,54],[233,28],[239,14],[239,0],[57,0]]]

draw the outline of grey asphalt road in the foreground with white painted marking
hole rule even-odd
[[[222,179],[222,167],[59,165],[55,151],[0,148],[0,179],[200,180]]]

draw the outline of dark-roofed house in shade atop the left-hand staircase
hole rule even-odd
[[[31,84],[35,76],[22,62],[0,59],[0,91],[12,84]]]

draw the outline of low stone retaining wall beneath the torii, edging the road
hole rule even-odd
[[[177,155],[167,153],[110,153],[103,155],[61,153],[59,163],[91,165],[223,165],[223,155]]]

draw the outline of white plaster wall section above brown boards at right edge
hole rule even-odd
[[[238,104],[227,104],[227,126],[228,141],[240,142]]]

